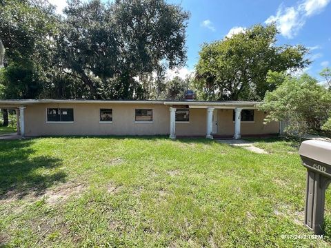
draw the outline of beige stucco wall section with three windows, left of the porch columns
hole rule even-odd
[[[48,107],[73,108],[74,123],[47,123]],[[112,123],[99,123],[99,110],[112,109]],[[135,123],[136,108],[153,109],[153,123]],[[26,107],[26,136],[39,135],[155,135],[170,131],[165,105],[147,104],[38,104]]]

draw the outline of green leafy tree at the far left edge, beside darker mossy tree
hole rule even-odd
[[[54,7],[46,0],[1,0],[0,6],[0,39],[8,64],[1,70],[5,97],[36,98],[52,68],[52,37],[57,27]]]

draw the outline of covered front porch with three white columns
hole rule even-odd
[[[225,103],[206,105],[201,102],[192,102],[188,105],[165,103],[165,105],[169,105],[170,138],[172,139],[175,139],[177,136],[192,136],[192,132],[197,133],[197,136],[201,136],[201,132],[203,132],[203,136],[210,139],[214,138],[214,136],[231,136],[234,139],[239,139],[241,138],[241,112],[250,110],[254,114],[254,111],[257,110],[257,107],[252,105],[252,103],[237,106],[230,103],[228,105]],[[190,115],[189,121],[179,121],[177,119],[179,110],[188,111],[187,113]],[[198,115],[199,118],[197,118]],[[189,127],[188,123],[192,123],[192,125]],[[246,121],[245,123],[254,125],[254,121]],[[177,129],[179,129],[179,132]],[[191,135],[183,132],[184,129],[190,130]]]

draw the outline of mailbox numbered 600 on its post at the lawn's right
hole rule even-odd
[[[323,234],[325,189],[331,182],[331,143],[303,141],[299,154],[307,168],[305,225],[314,234]]]

